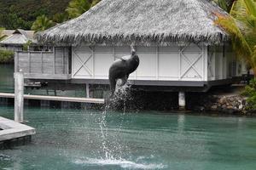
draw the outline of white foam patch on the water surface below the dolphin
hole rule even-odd
[[[74,161],[76,164],[86,164],[86,165],[98,165],[98,166],[119,166],[123,168],[132,168],[132,169],[163,169],[166,168],[163,164],[143,164],[143,163],[137,163],[133,161],[126,161],[126,160],[115,160],[115,159],[93,159],[93,158],[87,158],[85,160],[76,160]]]

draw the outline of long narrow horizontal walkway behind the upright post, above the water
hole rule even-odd
[[[15,98],[15,94],[0,93],[0,98]],[[40,99],[51,101],[69,101],[78,103],[91,103],[91,104],[104,104],[105,99],[93,99],[93,98],[71,98],[61,96],[44,96],[44,95],[24,95],[24,99]]]

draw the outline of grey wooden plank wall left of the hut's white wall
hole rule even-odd
[[[15,72],[22,71],[25,78],[63,79],[71,78],[67,48],[46,51],[18,51],[15,54]]]

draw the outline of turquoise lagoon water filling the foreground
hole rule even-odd
[[[13,108],[0,107],[13,118]],[[32,144],[0,150],[0,169],[256,169],[256,119],[26,108]]]

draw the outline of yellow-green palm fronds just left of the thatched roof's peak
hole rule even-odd
[[[66,9],[69,18],[73,19],[84,14],[91,7],[99,3],[101,0],[72,0]]]

